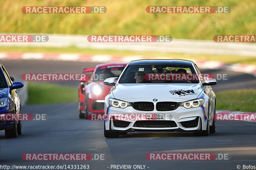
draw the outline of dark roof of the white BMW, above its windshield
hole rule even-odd
[[[143,59],[131,61],[129,65],[140,65],[140,64],[179,64],[179,65],[192,65],[189,60],[181,59]]]

